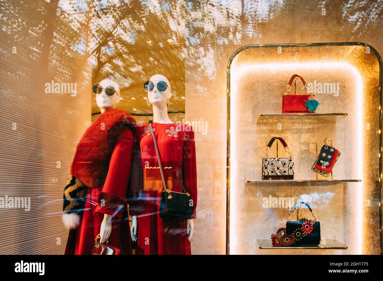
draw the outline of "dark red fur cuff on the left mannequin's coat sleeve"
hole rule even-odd
[[[110,214],[117,218],[121,218],[122,212],[126,207],[126,198],[102,191],[99,193],[97,201],[96,212]]]

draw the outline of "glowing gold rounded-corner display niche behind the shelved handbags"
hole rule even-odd
[[[280,115],[282,96],[293,74],[303,76],[314,91],[320,102],[318,115]],[[294,94],[293,86],[289,94]],[[381,252],[380,86],[380,57],[363,43],[249,45],[232,55],[227,253]],[[296,94],[307,94],[300,80],[296,80]],[[262,157],[273,136],[282,137],[290,147],[294,181],[261,180]],[[324,138],[331,139],[341,153],[333,169],[334,181],[311,171]],[[269,157],[275,156],[274,143]],[[280,144],[278,156],[287,156]],[[267,249],[271,233],[286,224],[289,213],[289,206],[274,206],[269,198],[307,201],[321,222],[320,247]],[[300,217],[310,216],[300,208]]]

